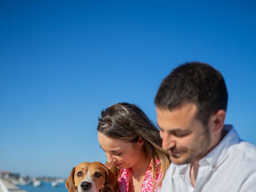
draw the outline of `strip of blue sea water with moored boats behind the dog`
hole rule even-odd
[[[52,187],[51,182],[41,181],[41,185],[37,187],[32,184],[18,185],[18,187],[27,192],[68,192],[65,183],[58,183],[58,186]]]

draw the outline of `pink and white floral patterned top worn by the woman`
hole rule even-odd
[[[160,191],[160,186],[158,186],[158,183],[162,178],[163,172],[162,172],[162,169],[160,168],[159,160],[156,160],[156,166],[158,169],[156,171],[156,182],[155,182],[154,190],[153,190],[153,175],[152,175],[152,162],[151,162],[148,167],[148,170],[145,173],[141,192],[159,192]],[[128,192],[129,169],[122,170],[122,174],[120,178],[118,178],[118,182],[120,183],[119,192]]]

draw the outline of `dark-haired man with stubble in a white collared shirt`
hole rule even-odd
[[[224,125],[227,102],[224,79],[208,64],[184,64],[163,80],[157,123],[172,164],[162,192],[256,191],[256,146]]]

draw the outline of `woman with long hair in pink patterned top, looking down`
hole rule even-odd
[[[101,112],[98,140],[106,166],[120,182],[120,192],[160,190],[170,165],[156,126],[134,104],[118,103]]]

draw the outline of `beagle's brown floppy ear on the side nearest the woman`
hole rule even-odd
[[[104,192],[118,192],[119,191],[119,182],[108,168],[105,167],[106,171],[106,182]]]

